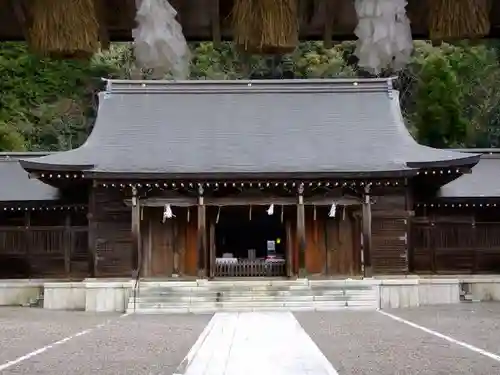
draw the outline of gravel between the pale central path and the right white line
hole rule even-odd
[[[393,313],[400,315],[401,311]],[[500,373],[500,363],[378,312],[297,313],[295,316],[340,375]],[[450,326],[452,324],[450,321]],[[440,327],[432,328],[439,330]]]

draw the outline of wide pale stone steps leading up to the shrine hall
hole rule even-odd
[[[140,283],[128,313],[220,311],[329,311],[377,309],[379,289],[370,280],[223,280]]]

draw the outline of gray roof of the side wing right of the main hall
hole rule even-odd
[[[465,174],[443,186],[442,198],[500,198],[500,153],[486,153]]]

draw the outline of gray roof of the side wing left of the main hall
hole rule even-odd
[[[40,157],[40,153],[0,153],[0,203],[51,201],[58,198],[58,189],[37,179],[30,179],[19,164],[19,158]]]

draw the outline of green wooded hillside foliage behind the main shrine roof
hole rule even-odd
[[[230,43],[192,44],[192,79],[265,76],[269,59],[240,56]],[[325,49],[302,43],[279,69],[297,78],[363,75],[353,42]],[[415,42],[397,88],[407,126],[434,147],[496,147],[500,139],[500,66],[495,43],[434,47]],[[278,70],[279,70],[278,69]],[[386,74],[390,74],[387,72]],[[0,43],[0,151],[67,150],[81,145],[96,115],[102,77],[148,77],[129,43],[113,44],[91,61],[40,59],[22,43]]]

